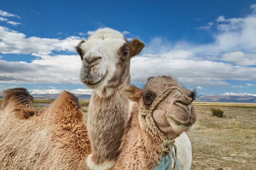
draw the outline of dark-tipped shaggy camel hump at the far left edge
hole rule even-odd
[[[35,114],[35,111],[31,109],[34,98],[26,88],[9,88],[3,91],[3,94],[1,110],[8,108],[14,111],[20,119],[28,119]]]

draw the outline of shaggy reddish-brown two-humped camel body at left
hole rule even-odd
[[[87,128],[78,99],[64,91],[49,108],[32,109],[24,88],[4,91],[0,110],[1,170],[87,170]]]

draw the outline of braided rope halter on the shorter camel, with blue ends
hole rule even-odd
[[[153,111],[155,108],[157,108],[157,105],[163,101],[173,90],[180,91],[181,94],[183,92],[173,86],[172,88],[168,88],[165,91],[163,91],[162,94],[157,96],[157,98],[154,100],[154,102],[151,104],[149,109],[145,109],[144,107],[139,107],[139,115],[140,115],[140,122],[143,125],[143,128],[153,137],[158,137],[161,140],[163,140],[162,143],[162,148],[163,148],[163,153],[168,153],[166,156],[163,157],[163,159],[160,162],[159,167],[157,167],[155,170],[169,170],[170,169],[170,162],[171,162],[171,156],[174,159],[174,166],[172,170],[175,169],[175,166],[177,165],[178,170],[181,170],[180,164],[177,161],[177,148],[175,145],[175,140],[171,139],[168,140],[166,139],[167,137],[158,129],[157,125],[154,122],[153,119]],[[148,122],[146,121],[148,119]],[[172,147],[174,147],[175,153],[172,150]]]

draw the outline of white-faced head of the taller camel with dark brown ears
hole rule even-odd
[[[119,31],[99,28],[87,41],[76,46],[82,60],[81,82],[101,92],[129,81],[130,59],[145,44],[134,39],[128,42]]]

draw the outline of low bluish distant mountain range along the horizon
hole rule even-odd
[[[79,99],[90,99],[90,94],[75,94]],[[59,94],[32,94],[35,99],[56,99]],[[0,95],[0,98],[3,96]],[[201,95],[196,99],[197,102],[238,102],[255,103],[256,96],[251,95]]]

